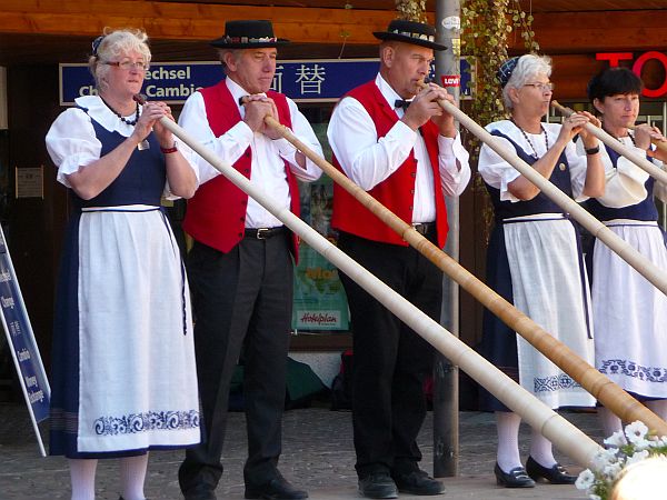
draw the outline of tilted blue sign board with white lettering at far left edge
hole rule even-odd
[[[17,367],[40,451],[46,457],[37,422],[49,417],[51,388],[34,341],[2,228],[0,228],[0,304],[7,342]]]

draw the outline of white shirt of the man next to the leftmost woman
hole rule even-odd
[[[233,101],[237,103],[236,106],[238,106],[242,120],[246,116],[246,108],[238,103],[239,98],[248,96],[250,92],[243,90],[230,78],[225,81]],[[291,116],[292,132],[310,149],[321,156],[321,146],[310,123],[291,99],[288,98],[287,102]],[[297,149],[286,139],[271,140],[263,133],[252,132],[243,121],[239,121],[222,136],[216,137],[209,126],[203,97],[200,92],[195,92],[188,98],[178,121],[199,142],[211,149],[222,161],[229,164],[236,163],[246,149],[250,147],[252,150],[250,180],[261,186],[265,192],[272,199],[279,200],[285,208],[290,207],[291,197],[283,160],[288,161],[292,173],[302,181],[317,180],[322,173],[319,167],[308,159],[306,160],[306,169],[299,167],[296,161]],[[220,174],[218,170],[198,154],[195,154],[191,161],[197,164],[200,183]],[[278,218],[252,198],[248,198],[247,228],[275,228],[278,226],[282,226]]]

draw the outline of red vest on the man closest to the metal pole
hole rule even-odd
[[[389,132],[398,121],[394,108],[389,106],[375,81],[365,83],[351,90],[347,96],[357,99],[368,111],[376,126],[378,139]],[[438,244],[445,247],[447,240],[447,208],[442,187],[440,186],[440,171],[438,169],[438,128],[428,121],[421,127],[426,149],[434,171],[434,186],[436,197],[436,226],[438,229]],[[334,164],[341,170],[340,163],[334,156]],[[415,200],[415,179],[417,177],[417,162],[415,150],[406,161],[391,176],[372,188],[368,193],[400,217],[405,222],[412,222],[412,202]],[[372,214],[351,194],[338,184],[334,186],[334,213],[331,226],[369,240],[407,246],[408,243],[389,226]]]

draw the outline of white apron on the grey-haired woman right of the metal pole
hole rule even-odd
[[[588,303],[590,298],[588,283],[581,282],[574,226],[563,214],[545,213],[510,219],[504,230],[516,308],[593,364],[593,320],[584,302],[585,294]],[[593,396],[520,336],[517,354],[521,387],[549,408],[595,404]]]

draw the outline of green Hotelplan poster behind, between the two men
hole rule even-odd
[[[302,184],[301,218],[320,234],[335,240],[330,226],[334,181],[322,176],[318,181]],[[338,269],[311,249],[299,246],[299,266],[295,270],[292,329],[349,330],[349,311]]]

